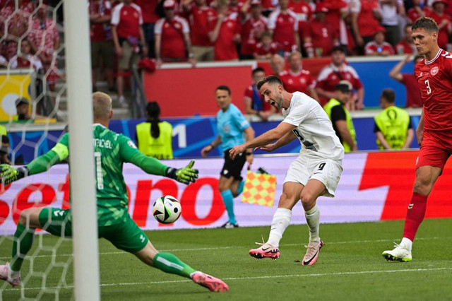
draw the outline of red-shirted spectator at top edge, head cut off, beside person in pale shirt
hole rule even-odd
[[[373,39],[380,25],[381,11],[378,0],[362,0],[359,5],[352,13],[352,29],[359,53],[364,54],[364,46]]]

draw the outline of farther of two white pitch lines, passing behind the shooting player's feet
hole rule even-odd
[[[416,238],[416,240],[449,240],[452,237],[420,237]],[[393,242],[397,239],[393,240],[355,240],[355,241],[345,241],[345,242],[326,242],[326,244],[363,244],[363,243],[369,243],[369,242]],[[293,247],[293,246],[302,246],[305,243],[299,243],[299,244],[280,244],[280,246],[285,247]],[[230,247],[206,247],[206,248],[187,248],[187,249],[161,249],[160,252],[179,252],[179,251],[207,251],[207,250],[214,250],[214,249],[234,249],[234,248],[243,248],[244,246],[230,246]],[[101,252],[99,255],[113,255],[113,254],[129,254],[127,252]],[[40,257],[52,257],[53,255],[37,255],[33,256],[33,258],[40,258]],[[57,254],[56,256],[72,256],[72,254]],[[7,257],[0,257],[0,260],[3,259],[10,259],[11,256]]]

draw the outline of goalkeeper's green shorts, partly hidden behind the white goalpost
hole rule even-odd
[[[72,222],[69,219],[69,209],[43,208],[39,220],[42,229],[52,235],[60,237],[72,237]],[[121,223],[99,226],[97,228],[99,238],[105,238],[112,242],[114,247],[129,253],[141,251],[148,244],[148,237],[138,225],[125,213]]]

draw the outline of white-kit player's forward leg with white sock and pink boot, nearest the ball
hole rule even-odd
[[[279,244],[284,231],[290,225],[292,208],[299,201],[304,186],[296,182],[285,182],[283,194],[280,196],[278,209],[273,215],[270,228],[270,235],[266,243],[257,249],[249,250],[249,254],[257,259],[271,258],[277,259],[280,256]]]

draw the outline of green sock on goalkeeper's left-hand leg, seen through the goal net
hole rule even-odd
[[[21,223],[17,224],[16,233],[14,233],[13,253],[11,254],[11,270],[20,271],[23,259],[33,245],[34,236],[35,229],[27,229]]]

